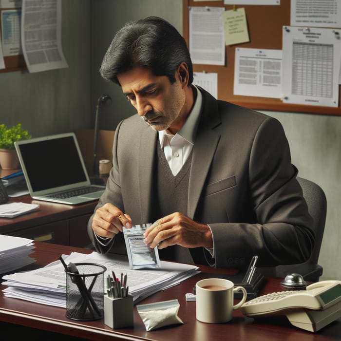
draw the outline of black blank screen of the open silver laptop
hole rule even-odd
[[[27,140],[17,146],[33,192],[88,180],[73,133]]]

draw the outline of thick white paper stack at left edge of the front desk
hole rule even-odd
[[[35,247],[31,239],[0,235],[0,274],[36,262],[29,257]]]

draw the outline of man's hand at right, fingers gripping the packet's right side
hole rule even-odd
[[[146,244],[159,249],[170,245],[184,247],[203,246],[213,247],[213,238],[210,228],[205,224],[194,222],[186,215],[175,212],[158,219],[144,233]]]

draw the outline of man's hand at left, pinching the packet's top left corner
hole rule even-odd
[[[105,204],[98,208],[93,218],[93,230],[97,236],[113,238],[122,227],[131,228],[132,218],[113,204]]]

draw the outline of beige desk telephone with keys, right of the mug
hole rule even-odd
[[[248,317],[286,315],[292,325],[316,332],[341,317],[341,281],[273,292],[247,301],[240,309]]]

